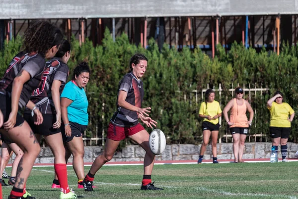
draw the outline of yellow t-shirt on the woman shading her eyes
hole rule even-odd
[[[270,126],[274,127],[291,127],[291,122],[288,120],[289,115],[294,113],[293,108],[288,103],[272,102],[270,111]]]

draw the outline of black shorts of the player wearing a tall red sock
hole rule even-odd
[[[34,118],[31,114],[24,114],[24,119],[30,125],[33,133],[40,135],[53,135],[60,133],[60,128],[53,128],[53,124],[56,122],[56,115],[53,114],[42,114],[43,122],[40,125],[34,124]]]

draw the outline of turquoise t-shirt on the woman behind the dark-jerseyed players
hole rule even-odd
[[[73,100],[67,107],[69,120],[81,125],[88,125],[88,100],[84,89],[80,89],[70,81],[65,85],[61,98]]]

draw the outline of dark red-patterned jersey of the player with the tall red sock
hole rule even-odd
[[[52,100],[52,84],[54,80],[61,81],[59,89],[61,95],[67,82],[68,75],[69,67],[60,58],[54,57],[46,63],[41,84],[32,92],[30,97],[30,100],[35,103],[41,113],[56,114],[55,105]],[[25,113],[28,112],[31,112],[31,110],[25,109]]]

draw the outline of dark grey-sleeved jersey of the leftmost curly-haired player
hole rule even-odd
[[[30,74],[30,80],[23,85],[19,107],[26,106],[32,91],[38,87],[42,72],[45,67],[45,59],[38,53],[18,53],[8,65],[3,78],[0,81],[0,94],[11,96],[12,83],[16,75],[24,70]]]

